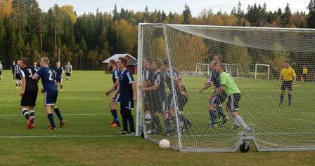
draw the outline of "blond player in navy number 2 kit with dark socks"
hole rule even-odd
[[[56,77],[53,69],[49,68],[49,58],[42,57],[41,58],[41,69],[39,69],[33,76],[32,79],[41,78],[41,83],[43,84],[44,90],[42,92],[44,95],[44,107],[49,118],[49,122],[51,125],[48,127],[48,130],[53,130],[56,128],[55,121],[53,120],[53,113],[51,112],[51,108],[55,111],[56,115],[60,120],[59,128],[65,125],[65,120],[63,120],[63,116],[61,116],[60,110],[58,109],[56,102],[58,97],[58,89],[56,85]]]

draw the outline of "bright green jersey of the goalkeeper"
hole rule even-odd
[[[220,83],[225,85],[225,91],[227,95],[232,95],[234,93],[240,93],[240,90],[236,86],[232,76],[226,72],[220,74]]]

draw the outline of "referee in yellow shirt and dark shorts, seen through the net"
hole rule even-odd
[[[291,106],[291,91],[292,87],[295,84],[295,80],[297,78],[297,75],[295,74],[295,71],[292,67],[290,67],[290,64],[288,61],[285,61],[284,67],[281,70],[280,76],[279,76],[279,85],[281,84],[281,95],[280,95],[280,104],[283,104],[283,93],[286,89],[288,89],[288,99],[289,99],[289,106]]]

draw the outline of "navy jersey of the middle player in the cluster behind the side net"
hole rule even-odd
[[[153,90],[153,96],[157,97],[161,101],[166,100],[165,92],[165,76],[160,70],[156,71],[154,74],[154,84],[158,85],[158,89]]]

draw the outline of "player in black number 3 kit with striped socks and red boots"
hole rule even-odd
[[[22,90],[20,91],[21,99],[21,111],[23,116],[27,119],[27,128],[34,128],[35,111],[38,86],[37,81],[32,79],[35,70],[32,67],[28,67],[27,59],[20,59],[20,75],[22,78]],[[29,108],[27,110],[27,107]]]

